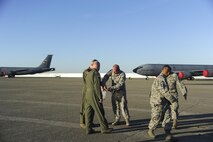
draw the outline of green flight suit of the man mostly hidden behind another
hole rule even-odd
[[[91,71],[90,68],[84,70],[83,72],[83,90],[82,90],[82,104],[80,108],[80,124],[85,124],[85,95],[86,95],[86,76]],[[94,114],[93,114],[94,115]]]

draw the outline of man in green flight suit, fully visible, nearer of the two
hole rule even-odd
[[[94,112],[97,116],[102,133],[111,133],[108,122],[105,118],[103,108],[103,99],[101,92],[101,77],[99,74],[100,63],[98,61],[92,64],[92,69],[87,73],[85,78],[85,118],[86,118],[86,134],[94,133],[92,129]]]

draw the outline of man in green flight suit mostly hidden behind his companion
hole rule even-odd
[[[94,62],[97,62],[97,60],[94,59],[91,62],[90,66],[83,72],[83,91],[82,91],[83,97],[82,97],[82,104],[81,104],[81,109],[80,109],[80,127],[83,129],[86,128],[86,122],[85,122],[86,76],[92,70],[92,65],[94,64]]]

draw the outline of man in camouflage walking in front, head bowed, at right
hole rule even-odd
[[[152,90],[150,93],[150,105],[151,105],[151,120],[149,123],[148,135],[151,138],[155,138],[154,130],[157,128],[161,120],[162,110],[167,103],[174,103],[175,98],[169,93],[166,77],[169,75],[171,67],[165,65],[161,74],[154,80],[152,84]],[[171,140],[171,110],[170,107],[166,110],[164,115],[165,120],[165,133],[166,140]]]

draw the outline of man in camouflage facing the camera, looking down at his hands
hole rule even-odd
[[[112,80],[112,86],[107,88],[106,82],[109,77]],[[126,74],[120,70],[119,65],[114,65],[112,70],[106,73],[104,78],[102,79],[102,84],[105,86],[105,89],[108,89],[112,92],[112,108],[115,116],[115,121],[112,125],[118,125],[121,118],[121,112],[126,121],[126,125],[129,126],[129,111],[127,106],[127,97],[126,97]]]

